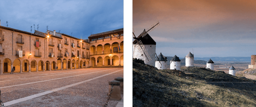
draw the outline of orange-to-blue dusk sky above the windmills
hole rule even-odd
[[[156,54],[194,57],[250,57],[256,54],[256,1],[133,1],[133,29],[149,35]],[[193,49],[193,50],[192,50]]]

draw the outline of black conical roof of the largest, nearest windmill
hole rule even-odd
[[[142,35],[144,32],[145,32],[145,29],[140,35]],[[149,36],[148,33],[144,37],[140,36],[138,39],[142,42],[142,44],[154,44],[154,45],[156,45],[156,42],[151,38],[151,36]],[[136,43],[137,43],[137,41],[134,40],[133,44],[136,44]]]

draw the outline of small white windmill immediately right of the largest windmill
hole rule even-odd
[[[157,67],[157,69],[167,69],[167,58],[164,57],[164,55],[162,55],[162,53],[160,53],[158,56],[156,56],[156,61],[155,61],[155,67]]]

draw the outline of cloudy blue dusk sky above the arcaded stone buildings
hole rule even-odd
[[[0,2],[1,26],[32,33],[48,30],[82,39],[95,33],[123,28],[123,1],[14,1]]]

